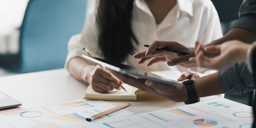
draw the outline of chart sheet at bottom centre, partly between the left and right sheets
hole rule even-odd
[[[138,115],[125,116],[70,128],[165,128]]]

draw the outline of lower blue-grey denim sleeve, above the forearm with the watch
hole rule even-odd
[[[236,63],[219,71],[219,80],[228,94],[242,95],[255,89],[253,75],[245,63]]]

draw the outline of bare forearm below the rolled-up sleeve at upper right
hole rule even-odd
[[[231,29],[222,38],[216,39],[215,41],[212,41],[207,45],[222,44],[223,42],[234,40],[234,39],[251,44],[253,41],[256,40],[256,36],[249,30],[236,27],[234,29]]]

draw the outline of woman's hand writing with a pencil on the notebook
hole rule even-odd
[[[86,66],[83,69],[83,72],[85,72],[85,74],[82,74],[82,79],[84,78],[86,82],[90,83],[94,91],[99,93],[108,93],[108,91],[113,89],[121,89],[119,84],[122,82],[110,71],[104,68]]]

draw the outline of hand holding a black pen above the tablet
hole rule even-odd
[[[180,55],[177,53],[163,52],[161,50],[156,50],[157,48],[171,48],[177,50],[184,50],[189,52],[189,55]],[[194,51],[192,47],[181,44],[177,41],[154,41],[151,44],[147,51],[140,52],[133,55],[134,58],[140,59],[138,64],[143,64],[145,61],[148,61],[147,67],[151,66],[154,63],[165,61],[169,66],[178,65],[185,68],[195,68],[195,61],[189,61],[190,57],[194,57]]]

